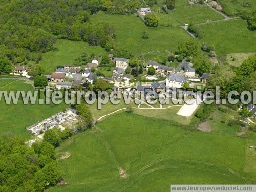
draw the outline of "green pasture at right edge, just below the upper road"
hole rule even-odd
[[[256,31],[247,29],[244,20],[229,20],[226,22],[199,25],[203,38],[215,46],[217,54],[256,52]]]

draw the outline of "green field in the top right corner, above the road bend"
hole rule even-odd
[[[219,0],[222,4],[222,11],[226,14],[233,16],[239,15],[243,11],[252,11],[256,8],[256,1],[255,0]],[[249,3],[250,7],[243,7],[242,3]]]

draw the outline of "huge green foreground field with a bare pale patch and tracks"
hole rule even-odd
[[[170,184],[255,183],[255,151],[243,138],[118,113],[65,141],[58,153],[67,186],[50,191],[166,191]],[[79,146],[79,147],[78,147]],[[246,158],[245,158],[246,156]]]

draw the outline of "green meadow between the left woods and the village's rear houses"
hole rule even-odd
[[[47,73],[54,72],[57,66],[73,65],[75,59],[86,52],[89,55],[94,53],[97,56],[106,55],[104,49],[99,46],[89,46],[83,41],[57,40],[54,45],[57,50],[46,52],[42,55],[40,65],[42,65]]]

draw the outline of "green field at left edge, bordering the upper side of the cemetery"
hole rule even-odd
[[[10,83],[10,80],[0,79],[0,84]],[[13,81],[8,86],[0,87],[0,91],[34,91],[31,84],[26,81]],[[43,93],[41,93],[42,95]],[[32,137],[26,127],[44,120],[60,111],[68,108],[66,104],[54,105],[54,104],[23,104],[22,100],[18,101],[18,104],[6,104],[3,96],[0,101],[0,134],[4,132],[12,132],[16,136],[22,136],[26,139]]]

